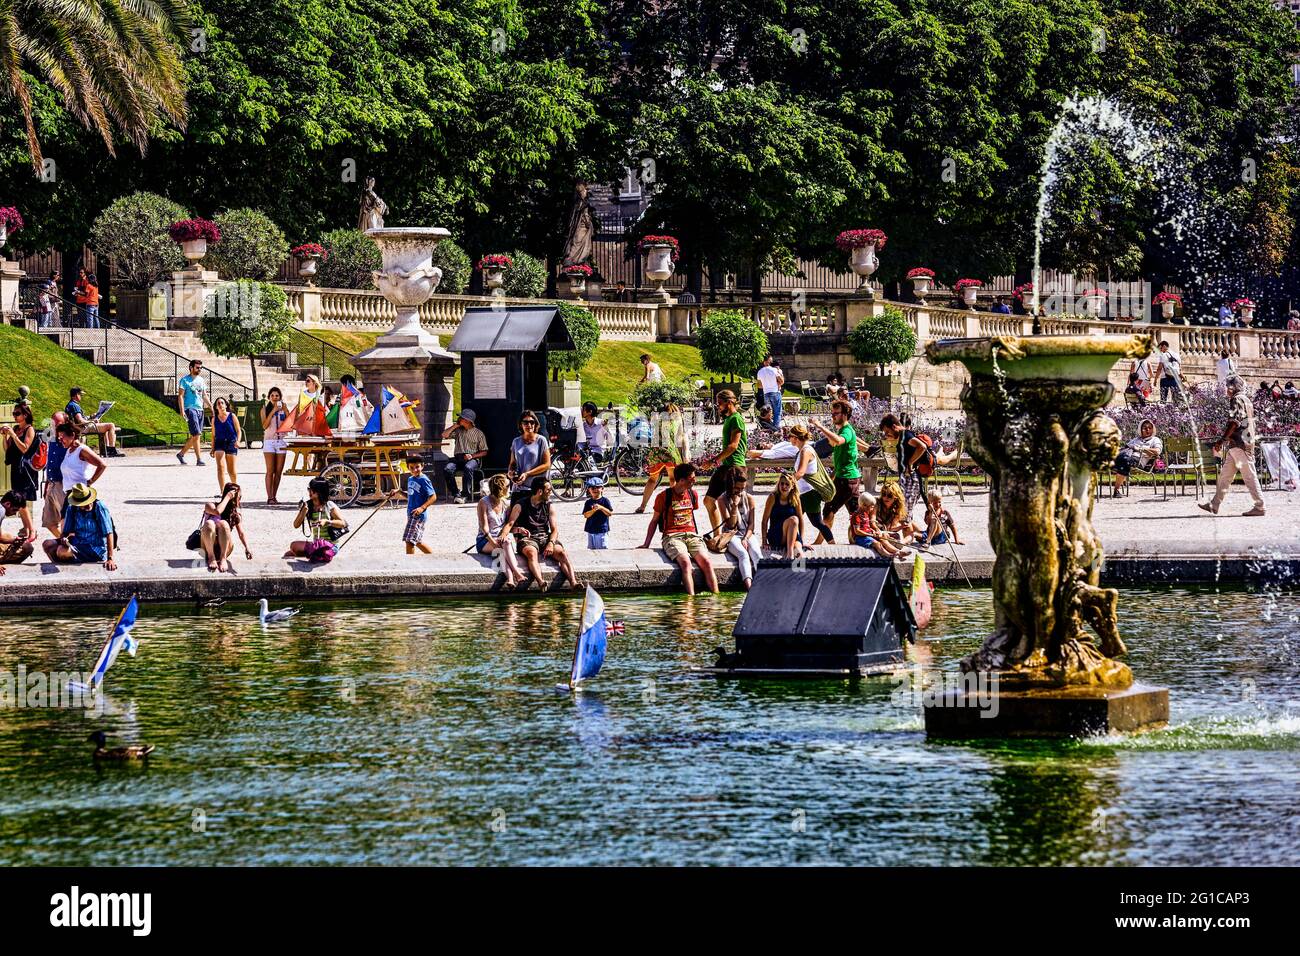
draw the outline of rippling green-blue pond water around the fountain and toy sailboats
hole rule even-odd
[[[607,594],[627,633],[554,691],[578,598],[151,606],[110,713],[0,710],[0,864],[1295,864],[1300,597],[1127,589],[1167,730],[933,744],[889,678],[718,682],[740,594]],[[88,669],[117,609],[6,611],[0,670]],[[992,619],[936,598],[930,669]],[[96,765],[105,728],[157,752]]]

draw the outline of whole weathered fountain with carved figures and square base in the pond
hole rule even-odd
[[[1169,692],[1135,683],[1119,659],[1118,592],[1100,587],[1104,553],[1092,528],[1096,471],[1119,450],[1119,428],[1101,411],[1114,394],[1109,372],[1150,350],[1150,336],[926,347],[930,362],[970,371],[966,444],[992,481],[997,555],[993,633],[962,661],[963,689],[926,706],[928,735],[1082,736],[1167,722]]]

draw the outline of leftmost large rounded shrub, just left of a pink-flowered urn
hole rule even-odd
[[[113,259],[124,286],[148,289],[185,268],[185,256],[168,235],[168,226],[187,215],[165,196],[131,193],[99,213],[90,229],[90,245],[96,255]]]

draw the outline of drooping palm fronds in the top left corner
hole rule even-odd
[[[143,153],[159,124],[185,126],[181,49],[188,23],[185,0],[0,0],[0,88],[18,105],[36,173],[39,94],[23,66],[39,70],[109,153],[117,135]]]

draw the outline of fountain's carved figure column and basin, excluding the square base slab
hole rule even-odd
[[[1092,506],[1095,472],[1119,450],[1119,429],[1098,411],[1114,394],[1106,372],[1119,358],[1149,352],[1149,336],[927,346],[931,362],[970,368],[967,446],[992,481],[994,630],[963,670],[997,672],[1010,688],[1132,683],[1114,659],[1126,648],[1118,594],[1100,587]]]

